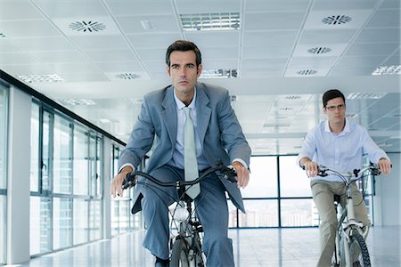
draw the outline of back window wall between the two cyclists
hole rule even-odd
[[[246,214],[229,205],[230,227],[316,226],[309,179],[296,156],[250,158],[250,183],[241,190]]]

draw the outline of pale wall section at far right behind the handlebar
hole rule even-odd
[[[376,177],[374,225],[401,225],[401,158],[399,153],[389,153],[393,168],[389,175]]]

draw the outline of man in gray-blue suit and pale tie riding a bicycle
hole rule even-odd
[[[228,238],[228,207],[225,191],[233,204],[244,211],[240,188],[250,180],[250,146],[230,105],[224,88],[198,83],[201,76],[201,52],[189,41],[178,40],[166,53],[172,85],[144,96],[142,110],[119,159],[119,174],[111,182],[110,192],[122,195],[127,173],[140,165],[152,150],[146,171],[163,182],[184,180],[184,107],[193,121],[199,173],[218,162],[232,165],[237,184],[219,179],[216,174],[201,182],[201,193],[194,199],[204,230],[203,251],[211,267],[232,267],[233,244]],[[186,108],[185,108],[186,109]],[[169,195],[174,188],[159,188]],[[143,247],[156,256],[156,266],[168,266],[168,194],[137,187],[132,212],[143,210],[147,231]]]

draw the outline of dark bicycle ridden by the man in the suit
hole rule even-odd
[[[135,171],[127,174],[123,182],[123,190],[131,188],[135,186],[135,184],[145,184],[146,186],[150,186],[148,183],[138,181],[138,176],[142,176],[143,178],[163,187],[176,187],[178,192],[178,198],[174,201],[176,207],[173,209],[173,212],[169,210],[169,213],[172,217],[171,224],[177,222],[179,225],[176,225],[176,235],[172,234],[170,236],[170,267],[206,266],[206,257],[203,255],[201,249],[201,233],[203,232],[203,229],[201,223],[194,215],[196,207],[192,208],[193,200],[185,194],[185,188],[201,182],[201,180],[214,172],[230,182],[236,182],[236,174],[233,167],[224,166],[223,164],[209,167],[209,169],[201,174],[200,177],[193,181],[160,182],[150,174]],[[170,229],[172,228],[171,224]],[[172,231],[170,231],[170,233],[172,233]]]

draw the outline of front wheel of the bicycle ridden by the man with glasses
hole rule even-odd
[[[354,231],[354,234],[351,236],[348,248],[351,263],[354,263],[354,266],[371,266],[371,257],[369,256],[366,243],[364,242],[364,238],[357,231]],[[357,263],[359,263],[359,265]]]

